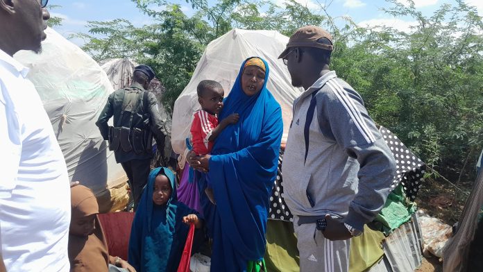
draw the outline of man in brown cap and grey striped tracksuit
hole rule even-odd
[[[292,85],[305,89],[294,101],[282,164],[300,271],[348,271],[350,237],[380,212],[395,172],[361,96],[330,71],[333,49],[329,33],[304,26],[279,57]]]

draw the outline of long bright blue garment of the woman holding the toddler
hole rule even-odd
[[[283,133],[282,110],[266,89],[269,65],[265,61],[262,90],[254,96],[244,94],[245,62],[219,117],[221,121],[238,113],[240,119],[217,137],[210,171],[196,175],[205,223],[213,238],[211,271],[246,271],[247,262],[262,260],[265,252],[269,198]],[[207,180],[217,205],[204,193]]]

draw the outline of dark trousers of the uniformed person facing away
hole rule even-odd
[[[129,179],[129,187],[134,200],[134,211],[136,211],[137,205],[141,200],[142,189],[148,182],[149,171],[151,171],[151,159],[130,160],[121,162],[121,165]]]

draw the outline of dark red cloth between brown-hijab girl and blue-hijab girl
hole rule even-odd
[[[128,260],[130,228],[134,212],[111,212],[99,214],[99,220],[108,242],[109,255]]]

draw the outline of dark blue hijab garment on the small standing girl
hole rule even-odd
[[[154,180],[160,173],[167,176],[173,189],[162,206],[153,203]],[[173,172],[164,167],[149,173],[129,239],[128,262],[138,272],[176,271],[189,230],[183,223],[183,216],[196,214],[200,217],[198,212],[178,202],[175,181]]]

